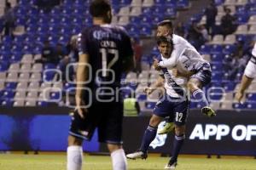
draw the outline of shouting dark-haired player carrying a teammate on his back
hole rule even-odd
[[[167,37],[157,38],[158,48],[160,50],[160,58],[166,61],[169,58],[175,57],[172,54],[172,39]],[[177,59],[177,63],[180,62]],[[156,66],[156,65],[154,65]],[[146,159],[149,144],[154,140],[160,122],[169,116],[172,122],[175,123],[175,138],[173,141],[172,158],[166,164],[165,169],[175,169],[177,166],[177,156],[183,146],[185,139],[185,123],[189,114],[189,100],[187,98],[187,77],[174,77],[172,69],[169,67],[162,68],[159,79],[151,85],[150,88],[145,88],[147,94],[151,94],[155,89],[162,87],[166,88],[166,93],[156,103],[154,114],[151,116],[148,127],[143,135],[143,141],[140,149],[134,153],[126,155],[130,159]]]

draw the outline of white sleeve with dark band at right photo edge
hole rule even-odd
[[[245,76],[249,78],[255,78],[256,77],[256,42],[253,47],[252,51],[252,58],[249,60],[247,67],[244,71]]]

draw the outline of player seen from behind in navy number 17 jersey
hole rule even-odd
[[[82,169],[83,139],[90,140],[96,127],[99,142],[108,146],[113,170],[126,170],[119,87],[122,71],[130,71],[134,65],[131,40],[123,27],[110,25],[107,0],[92,1],[90,14],[93,26],[85,28],[78,40],[76,109],[68,136],[67,170]]]

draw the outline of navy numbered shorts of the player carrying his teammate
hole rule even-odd
[[[174,122],[177,126],[184,125],[189,116],[189,100],[172,98],[165,94],[156,103],[154,115],[164,118],[169,117],[168,120]]]

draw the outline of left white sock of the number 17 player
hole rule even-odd
[[[82,170],[83,148],[82,146],[67,147],[67,170]]]

